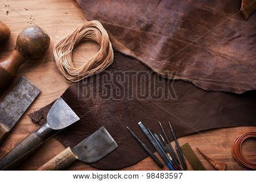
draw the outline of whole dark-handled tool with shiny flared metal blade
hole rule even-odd
[[[62,98],[58,98],[49,110],[47,122],[6,154],[0,160],[0,169],[10,170],[19,166],[47,139],[65,129],[65,127],[79,121],[79,119],[67,103]]]

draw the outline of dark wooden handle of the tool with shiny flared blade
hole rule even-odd
[[[27,138],[22,140],[22,142],[0,160],[0,170],[11,170],[17,167],[42,143],[43,140],[36,133],[28,135]]]

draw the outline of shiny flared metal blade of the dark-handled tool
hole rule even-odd
[[[47,115],[47,123],[53,130],[64,129],[79,121],[79,119],[62,98],[55,101]]]

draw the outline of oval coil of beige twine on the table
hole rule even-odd
[[[100,50],[81,67],[72,63],[72,50],[81,40],[93,40]],[[100,73],[113,63],[114,52],[109,36],[102,24],[96,20],[81,23],[71,34],[60,40],[53,49],[57,68],[66,81],[75,82]]]

